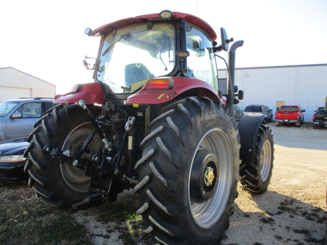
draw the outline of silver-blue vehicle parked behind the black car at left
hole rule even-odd
[[[54,106],[52,99],[17,99],[0,103],[0,141],[27,137],[36,121]]]

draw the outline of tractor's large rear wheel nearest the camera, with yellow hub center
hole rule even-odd
[[[237,195],[235,118],[207,98],[190,97],[164,108],[150,129],[135,165],[144,231],[155,244],[216,244]]]

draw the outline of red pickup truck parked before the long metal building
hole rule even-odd
[[[295,124],[298,128],[305,121],[304,113],[306,110],[302,110],[299,106],[281,106],[275,113],[275,123],[279,127],[284,124]]]

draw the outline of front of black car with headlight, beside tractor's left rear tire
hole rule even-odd
[[[29,143],[26,138],[0,142],[0,180],[26,180],[24,173],[26,158],[23,156]]]

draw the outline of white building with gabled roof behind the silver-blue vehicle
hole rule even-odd
[[[53,98],[55,95],[56,85],[12,67],[0,68],[0,102],[20,97]]]

